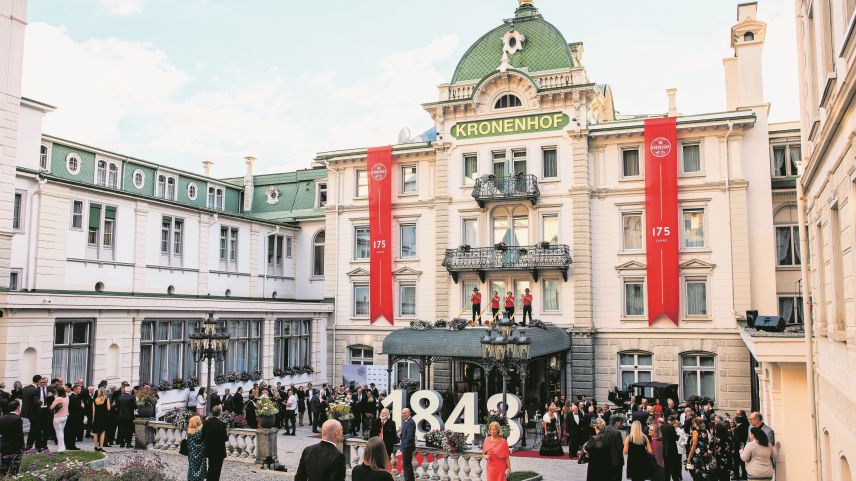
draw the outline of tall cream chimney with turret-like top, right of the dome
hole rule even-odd
[[[731,27],[734,56],[722,61],[728,110],[764,105],[762,53],[767,24],[757,15],[757,2],[737,6],[737,23]]]

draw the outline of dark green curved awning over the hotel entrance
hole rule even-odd
[[[383,340],[382,354],[480,359],[481,339],[487,334],[487,328],[450,331],[444,328],[416,330],[405,327],[386,336]],[[526,337],[532,340],[529,347],[530,358],[564,352],[571,348],[571,337],[568,332],[556,326],[546,326],[543,329],[528,327]]]

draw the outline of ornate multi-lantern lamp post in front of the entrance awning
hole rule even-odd
[[[520,373],[523,394],[523,447],[526,447],[526,368],[529,364],[531,344],[532,340],[526,337],[526,329],[521,327],[515,330],[514,322],[505,314],[481,340],[486,376],[490,376],[494,369],[499,369],[502,374],[502,417],[506,417],[508,413],[508,376],[514,368]]]

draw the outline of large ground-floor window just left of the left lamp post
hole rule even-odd
[[[140,382],[157,385],[177,377],[196,376],[188,334],[195,320],[143,321],[140,326]]]

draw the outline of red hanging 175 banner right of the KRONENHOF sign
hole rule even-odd
[[[678,138],[674,117],[645,119],[645,227],[648,325],[678,323]]]

